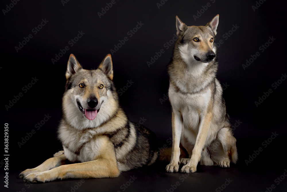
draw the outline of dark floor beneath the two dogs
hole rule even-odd
[[[160,169],[161,168],[161,169]],[[122,173],[118,178],[70,179],[28,184],[9,174],[9,191],[286,191],[287,179],[274,182],[286,173],[282,167],[240,167],[222,169],[198,166],[193,174],[166,173],[164,166],[150,166]],[[1,176],[2,177],[2,176]],[[3,177],[2,177],[3,178]]]

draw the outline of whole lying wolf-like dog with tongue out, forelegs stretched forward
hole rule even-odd
[[[97,70],[83,69],[75,56],[70,55],[66,78],[58,129],[64,151],[55,153],[36,168],[21,172],[20,178],[47,182],[117,177],[123,171],[156,161],[155,134],[130,122],[119,106],[110,54]],[[65,164],[66,160],[81,163]]]

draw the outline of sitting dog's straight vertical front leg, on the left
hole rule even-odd
[[[172,153],[170,163],[166,166],[167,172],[179,171],[179,155],[180,155],[180,137],[183,126],[183,120],[179,111],[172,112]]]

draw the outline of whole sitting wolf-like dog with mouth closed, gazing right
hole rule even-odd
[[[167,172],[195,172],[203,165],[229,167],[236,163],[233,136],[222,87],[216,79],[218,63],[214,39],[219,15],[206,26],[186,26],[176,17],[178,40],[174,46],[169,100],[172,105],[172,153]],[[180,158],[180,143],[189,158]],[[165,158],[166,159],[166,158]]]

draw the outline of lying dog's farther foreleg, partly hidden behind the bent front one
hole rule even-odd
[[[30,173],[47,171],[47,170],[53,169],[55,167],[59,167],[60,165],[65,164],[66,159],[67,158],[64,154],[49,158],[46,161],[44,161],[44,163],[39,165],[38,167],[35,167],[32,169],[26,169],[25,171],[22,171],[19,174],[19,177],[22,179],[23,177],[27,176]]]

